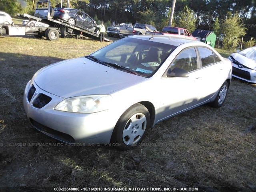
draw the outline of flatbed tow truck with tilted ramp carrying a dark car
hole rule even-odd
[[[46,5],[45,8],[40,8],[40,5]],[[34,24],[26,24],[24,26],[18,24],[6,25],[0,27],[0,34],[8,34],[10,36],[23,36],[26,34],[34,35],[36,38],[46,37],[47,40],[54,41],[58,38],[86,36],[92,39],[98,39],[99,33],[91,32],[86,29],[78,28],[77,26],[71,26],[68,22],[63,20],[54,20],[54,9],[51,8],[51,2],[48,0],[38,1],[36,3],[35,16],[28,14],[17,14],[19,17],[28,20],[34,20]],[[38,17],[40,16],[40,17]],[[40,22],[37,24],[36,22]],[[104,39],[107,42],[112,42],[107,38]]]

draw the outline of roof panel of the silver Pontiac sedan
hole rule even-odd
[[[150,38],[152,38],[150,40]],[[173,37],[173,36],[168,36],[168,35],[134,35],[134,36],[129,36],[128,38],[136,38],[136,39],[143,39],[143,40],[148,40],[148,41],[154,41],[154,42],[160,42],[164,44],[170,44],[174,46],[180,46],[181,44],[184,43],[194,43],[195,45],[201,45],[204,46],[205,43],[196,41],[196,40],[189,40],[185,38],[180,38],[180,37]]]

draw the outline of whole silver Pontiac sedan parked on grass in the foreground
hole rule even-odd
[[[57,140],[131,149],[158,122],[205,103],[223,105],[232,64],[202,42],[123,38],[40,69],[24,91],[32,126]]]

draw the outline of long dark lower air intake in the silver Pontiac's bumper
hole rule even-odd
[[[72,136],[70,136],[69,134],[66,133],[62,133],[60,131],[56,131],[54,129],[51,129],[47,126],[44,126],[43,124],[40,124],[39,122],[36,122],[33,119],[29,119],[30,123],[32,124],[32,126],[34,126],[37,130],[55,138],[58,139],[60,141],[66,142],[66,143],[74,143],[75,140]]]

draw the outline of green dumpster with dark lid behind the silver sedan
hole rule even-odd
[[[202,41],[214,48],[216,41],[216,34],[213,31],[197,29],[192,32],[192,36],[198,41]]]

